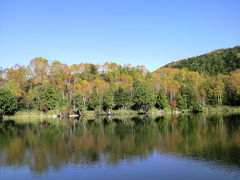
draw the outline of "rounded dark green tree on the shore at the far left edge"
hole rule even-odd
[[[9,89],[0,89],[0,116],[14,115],[18,110],[16,97]]]

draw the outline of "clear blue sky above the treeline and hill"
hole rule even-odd
[[[145,65],[240,45],[240,0],[0,0],[0,66]]]

